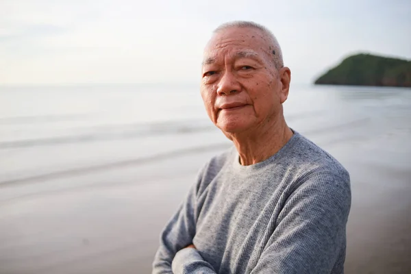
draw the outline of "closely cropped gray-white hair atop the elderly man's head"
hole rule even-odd
[[[232,22],[227,22],[227,23],[223,23],[222,25],[219,25],[219,27],[214,29],[214,34],[217,32],[221,32],[224,29],[231,28],[231,27],[252,28],[252,29],[260,30],[262,34],[264,34],[271,40],[271,46],[273,47],[272,51],[274,53],[273,61],[274,61],[275,67],[277,69],[280,69],[284,66],[281,47],[279,47],[277,38],[275,38],[274,34],[269,29],[267,29],[263,25],[254,23],[252,21],[232,21]]]

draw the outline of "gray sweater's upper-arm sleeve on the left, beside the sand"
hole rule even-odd
[[[171,264],[176,253],[192,244],[196,230],[197,188],[201,184],[203,171],[204,168],[199,173],[197,184],[190,188],[186,199],[162,231],[160,247],[153,261],[153,274],[173,273]]]

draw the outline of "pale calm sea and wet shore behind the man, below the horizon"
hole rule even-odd
[[[411,270],[411,90],[296,85],[284,112],[351,173],[346,272]],[[0,88],[0,273],[149,273],[229,145],[197,86]]]

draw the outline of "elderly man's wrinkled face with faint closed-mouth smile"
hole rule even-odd
[[[285,92],[273,54],[258,29],[230,27],[212,36],[204,51],[201,97],[223,132],[254,129],[282,111],[288,86]],[[288,70],[288,82],[289,76]]]

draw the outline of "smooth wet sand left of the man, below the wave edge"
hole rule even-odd
[[[149,273],[160,230],[213,153],[1,187],[0,273]]]

